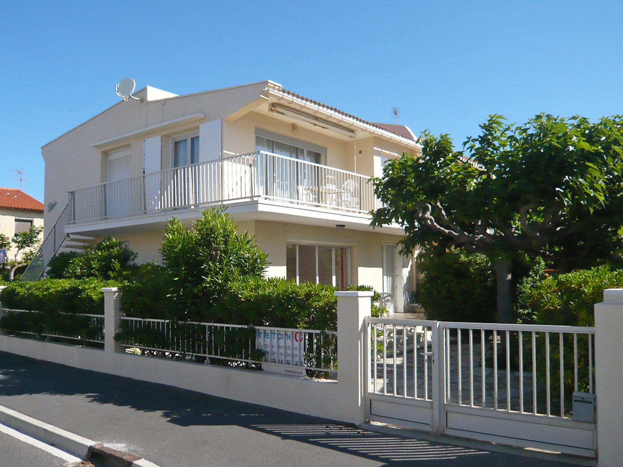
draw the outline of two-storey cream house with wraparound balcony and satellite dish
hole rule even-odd
[[[146,87],[136,97],[43,146],[45,203],[58,203],[45,213],[45,234],[56,229],[57,238],[48,251],[59,249],[59,232],[112,235],[140,262],[158,260],[171,216],[190,225],[199,209],[222,203],[268,253],[267,275],[371,285],[402,311],[412,258],[397,253],[398,225],[369,226],[378,207],[369,177],[419,153],[409,128],[268,80],[181,96]]]

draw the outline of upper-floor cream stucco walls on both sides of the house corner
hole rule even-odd
[[[170,93],[147,87],[136,96],[143,102],[119,102],[90,120],[59,136],[42,148],[45,161],[44,204],[57,202],[52,212],[45,212],[45,234],[67,204],[67,192],[94,186],[108,180],[107,157],[110,151],[130,148],[130,176],[143,172],[143,141],[161,138],[161,169],[171,166],[170,139],[189,131],[199,131],[200,125],[221,121],[221,141],[201,141],[210,148],[220,148],[222,154],[207,154],[209,159],[255,150],[255,128],[309,141],[327,148],[326,164],[331,167],[374,175],[374,148],[394,153],[408,151],[407,146],[386,141],[378,136],[358,136],[345,140],[330,131],[315,131],[305,124],[293,124],[274,115],[266,115],[269,101],[261,98],[267,82],[224,88],[209,92],[171,97]],[[245,111],[241,111],[247,109]],[[254,110],[255,109],[255,110]],[[262,112],[260,112],[262,110]],[[132,131],[141,131],[153,125],[174,121],[189,115],[205,117],[193,123],[172,125],[166,130],[150,130],[123,143],[111,142],[97,148],[92,145],[117,138]],[[235,115],[235,117],[232,117]],[[217,134],[210,134],[217,138]],[[212,149],[211,149],[212,150]],[[215,149],[216,150],[216,149]],[[201,152],[201,149],[200,149]],[[412,152],[412,151],[409,151]]]

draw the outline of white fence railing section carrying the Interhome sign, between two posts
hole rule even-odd
[[[124,347],[199,356],[234,366],[270,363],[337,374],[337,333],[237,324],[121,317],[118,341]]]

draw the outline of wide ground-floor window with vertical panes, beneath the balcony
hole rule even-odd
[[[286,278],[333,285],[344,290],[351,285],[351,248],[323,245],[286,246]]]

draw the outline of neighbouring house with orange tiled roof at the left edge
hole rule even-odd
[[[13,238],[31,225],[43,225],[43,203],[17,188],[0,187],[0,235]],[[43,240],[43,236],[41,236]],[[7,250],[7,260],[15,258],[14,247]]]

